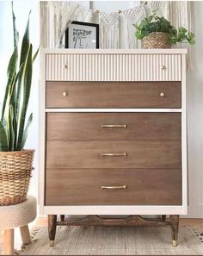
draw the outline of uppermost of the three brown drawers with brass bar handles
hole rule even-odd
[[[181,140],[181,113],[47,113],[46,138]]]

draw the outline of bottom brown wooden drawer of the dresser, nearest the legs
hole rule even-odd
[[[181,169],[46,170],[46,205],[99,204],[181,205]]]

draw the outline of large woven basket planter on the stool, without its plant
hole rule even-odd
[[[0,152],[0,205],[26,201],[34,150]]]

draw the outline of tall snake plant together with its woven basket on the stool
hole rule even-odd
[[[9,59],[7,84],[0,116],[0,205],[22,203],[26,200],[33,170],[34,150],[25,150],[28,128],[28,101],[32,84],[33,46],[29,41],[29,16],[22,48],[18,53],[18,32],[13,11],[14,51]],[[19,55],[19,56],[18,56]]]

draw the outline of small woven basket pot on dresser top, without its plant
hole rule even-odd
[[[142,48],[171,48],[169,44],[169,34],[163,32],[153,32],[145,36],[142,40]]]

